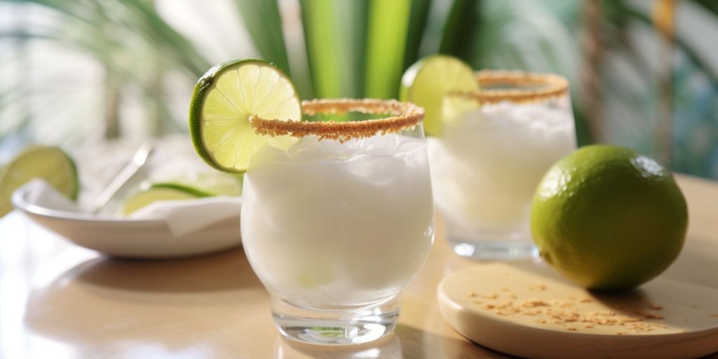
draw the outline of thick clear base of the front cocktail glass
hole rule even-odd
[[[359,344],[391,333],[399,318],[399,297],[365,307],[301,307],[272,297],[274,324],[284,337],[320,345]]]

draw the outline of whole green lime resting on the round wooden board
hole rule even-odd
[[[556,162],[531,208],[541,257],[588,289],[630,289],[661,274],[687,226],[671,172],[617,146],[584,146]]]

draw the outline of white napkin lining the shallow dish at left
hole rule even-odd
[[[17,203],[21,207],[34,206],[46,215],[87,220],[164,220],[174,236],[183,236],[196,230],[221,222],[228,218],[239,218],[241,197],[203,197],[191,200],[158,201],[137,210],[127,218],[115,218],[109,215],[85,213],[69,198],[57,192],[41,179],[35,179],[18,190],[22,195]],[[18,202],[16,201],[16,202]],[[32,208],[27,210],[34,211]],[[239,228],[237,228],[239,229]]]

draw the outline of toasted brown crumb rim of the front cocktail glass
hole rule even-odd
[[[348,141],[362,139],[376,134],[388,134],[411,129],[421,123],[424,109],[410,102],[375,99],[322,99],[302,101],[305,115],[330,113],[342,115],[348,112],[388,113],[391,117],[358,121],[292,121],[266,119],[252,116],[251,123],[257,134],[267,136],[293,137],[317,136],[322,139]]]

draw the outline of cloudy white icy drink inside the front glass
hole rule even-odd
[[[255,160],[243,241],[271,292],[308,307],[358,306],[395,295],[424,263],[433,203],[423,140],[304,137]]]

